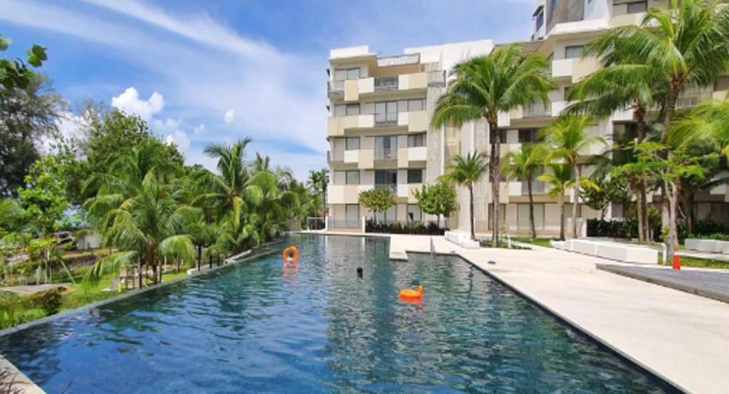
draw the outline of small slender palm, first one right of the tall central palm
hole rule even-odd
[[[531,237],[537,237],[537,228],[534,225],[534,196],[531,191],[532,182],[537,177],[538,171],[544,162],[545,149],[542,145],[525,143],[519,151],[510,151],[505,159],[504,173],[509,179],[523,178],[526,181],[526,190],[529,194],[529,225],[531,226]]]

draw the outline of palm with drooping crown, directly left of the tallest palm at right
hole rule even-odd
[[[660,73],[647,64],[614,64],[600,68],[574,85],[567,99],[575,101],[565,114],[609,117],[615,111],[632,109],[637,143],[646,136],[646,114],[666,96]],[[633,184],[633,182],[631,182]],[[640,241],[648,234],[647,180],[636,180]]]

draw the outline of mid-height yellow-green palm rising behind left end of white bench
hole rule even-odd
[[[585,133],[590,117],[566,115],[542,129],[540,135],[549,147],[547,159],[561,159],[574,171],[574,204],[572,204],[572,237],[577,238],[577,208],[580,203],[580,157],[589,154],[595,143],[607,144],[599,135]]]

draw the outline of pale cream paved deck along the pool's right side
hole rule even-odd
[[[458,253],[682,390],[728,392],[729,304],[596,268],[615,261],[539,246],[467,250],[433,239],[437,253]],[[392,235],[390,248],[428,252],[429,237]]]

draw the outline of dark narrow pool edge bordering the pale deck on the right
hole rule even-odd
[[[306,233],[308,234],[308,233]],[[314,234],[314,235],[328,235],[328,236],[344,236],[347,237],[346,234]],[[359,237],[367,237],[366,234],[358,234]],[[381,235],[378,235],[378,237],[381,237]],[[455,245],[454,245],[455,246]],[[534,250],[534,248],[531,248]],[[426,251],[413,251],[408,249],[405,249],[405,254],[421,254],[421,255],[429,255],[431,253]],[[563,315],[560,315],[558,312],[553,310],[550,307],[547,307],[546,304],[543,304],[542,302],[539,302],[537,299],[535,299],[532,296],[529,296],[528,294],[524,293],[523,291],[520,291],[515,286],[511,285],[510,283],[507,283],[502,278],[495,275],[493,272],[489,272],[487,269],[481,267],[479,264],[476,264],[475,261],[471,261],[466,256],[463,256],[461,253],[456,251],[455,249],[451,250],[449,253],[443,253],[443,252],[434,252],[434,254],[438,256],[455,256],[459,257],[463,261],[467,262],[468,264],[471,264],[473,267],[478,269],[480,272],[483,272],[488,277],[496,280],[496,282],[500,283],[501,285],[504,285],[506,288],[508,288],[510,291],[513,291],[517,296],[520,296],[522,299],[525,299],[527,302],[530,302],[534,307],[539,308],[539,310],[542,310],[543,312],[547,313],[547,315],[550,315],[551,317],[555,318],[559,322],[563,323],[564,325],[568,326],[569,328],[574,329],[574,331],[577,331],[577,334],[582,335],[585,339],[588,339],[592,341],[594,344],[596,344],[598,347],[600,347],[602,350],[606,350],[612,355],[615,355],[615,357],[619,358],[620,360],[625,361],[626,363],[630,364],[631,366],[635,366],[639,371],[641,371],[644,374],[649,375],[650,377],[653,377],[654,379],[658,380],[659,382],[662,382],[663,385],[665,385],[663,388],[671,388],[672,390],[677,390],[679,393],[690,393],[690,391],[686,390],[684,387],[681,387],[681,385],[678,385],[676,382],[674,382],[672,379],[668,379],[668,377],[663,376],[663,374],[658,373],[657,371],[654,371],[649,366],[644,365],[644,363],[641,363],[639,360],[636,360],[632,358],[630,355],[626,354],[619,348],[613,346],[609,342],[601,339],[599,336],[596,336],[596,334],[593,334],[590,332],[587,328],[584,328],[580,326],[580,324],[575,323],[574,321],[570,320],[569,318],[564,317]],[[391,259],[393,261],[407,261],[402,259]]]

